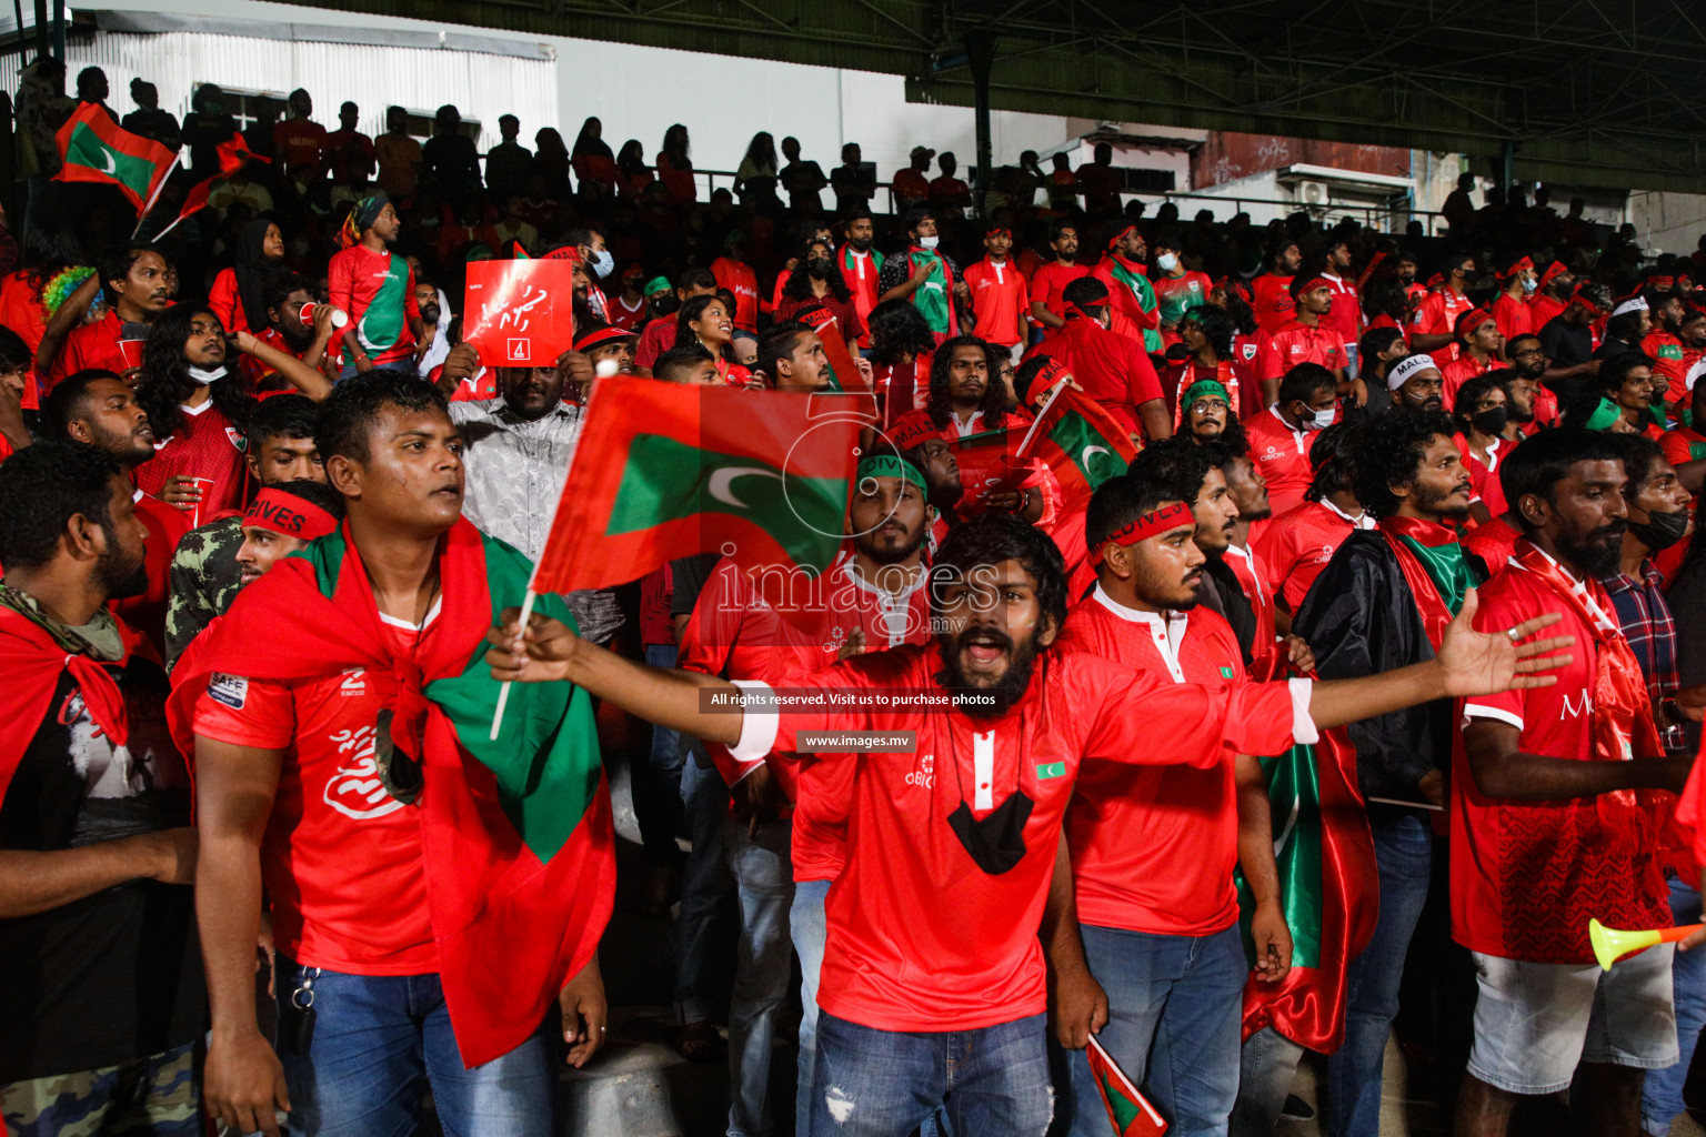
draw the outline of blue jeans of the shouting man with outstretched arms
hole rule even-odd
[[[812,1132],[906,1137],[947,1103],[960,1137],[1042,1137],[1054,1113],[1044,1016],[891,1031],[817,1016]]]

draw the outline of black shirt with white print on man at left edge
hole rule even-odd
[[[165,672],[107,668],[128,747],[84,709],[70,672],[0,801],[0,849],[53,852],[189,823],[189,776],[165,730]],[[194,892],[136,880],[0,921],[0,1082],[171,1050],[206,1030]]]

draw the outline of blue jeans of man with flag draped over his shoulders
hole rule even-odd
[[[316,972],[319,972],[316,975]],[[345,975],[278,956],[278,1006],[314,975],[314,1040],[280,1045],[293,1137],[408,1137],[432,1089],[445,1137],[551,1137],[549,1043],[541,1030],[502,1059],[462,1067],[437,975]]]

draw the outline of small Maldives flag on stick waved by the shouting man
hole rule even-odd
[[[815,576],[872,423],[848,395],[601,380],[532,590],[609,588],[696,552]]]

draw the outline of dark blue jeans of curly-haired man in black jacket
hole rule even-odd
[[[1385,1043],[1397,1014],[1404,955],[1433,871],[1433,827],[1419,810],[1373,806],[1368,827],[1380,873],[1380,919],[1373,939],[1344,973],[1344,1045],[1327,1059],[1331,1137],[1380,1137]]]

